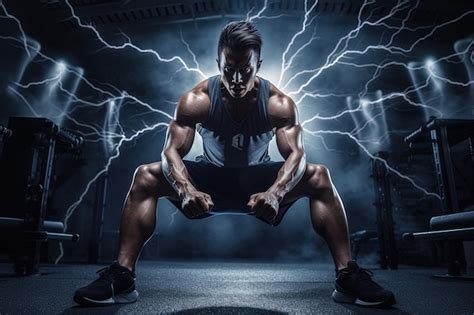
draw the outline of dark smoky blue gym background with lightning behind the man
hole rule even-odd
[[[196,71],[183,69],[179,60],[160,61],[150,51],[162,58],[179,56],[189,67],[199,67],[204,76],[217,74],[217,39],[223,26],[245,19],[248,12],[256,14],[264,2],[70,3],[82,22],[95,27],[110,45],[121,46],[130,39],[147,51],[105,47],[93,30],[80,27],[71,18],[63,1],[4,0],[2,9],[22,25],[29,55],[18,23],[0,10],[0,124],[7,125],[10,116],[47,117],[86,140],[81,159],[63,156],[56,161],[49,217],[64,220],[69,209],[68,231],[81,235],[79,244],[64,244],[63,261],[87,260],[91,242],[97,239],[93,216],[104,187],[104,176],[96,178],[96,174],[116,156],[110,160],[105,186],[100,259],[106,261],[116,253],[121,206],[134,170],[160,160],[166,125],[159,123],[166,124],[179,96],[204,79]],[[312,4],[309,1],[308,8]],[[307,159],[329,167],[344,200],[351,232],[375,228],[371,154],[389,150],[393,153],[390,165],[420,187],[437,193],[431,162],[401,162],[406,150],[403,137],[433,115],[474,116],[473,84],[459,84],[473,80],[474,75],[472,3],[405,1],[397,6],[395,1],[372,1],[360,11],[362,4],[319,1],[308,14],[305,31],[286,54],[288,61],[302,48],[278,85],[298,102],[300,121],[307,130]],[[264,39],[260,75],[277,84],[282,55],[303,25],[304,1],[269,0],[262,16],[254,19]],[[357,27],[358,19],[382,21],[366,23],[359,32],[351,33],[349,41],[338,45]],[[303,48],[305,43],[309,44]],[[336,47],[336,54],[328,59]],[[347,52],[351,50],[363,53]],[[346,53],[341,54],[343,51]],[[286,85],[294,74],[325,64],[300,93],[295,91],[311,74]],[[27,86],[32,82],[37,84]],[[302,98],[305,92],[319,96]],[[358,110],[331,118],[359,105]],[[315,115],[320,118],[306,122]],[[144,132],[137,134],[141,129]],[[197,140],[188,159],[199,154]],[[274,143],[271,155],[281,159]],[[398,181],[397,235],[425,229],[429,217],[439,212],[438,200],[407,180]],[[467,189],[472,191],[472,187]],[[405,199],[403,194],[417,202],[410,206],[398,202],[397,198]],[[277,228],[247,216],[189,221],[161,200],[155,236],[142,258],[329,261],[326,245],[314,233],[309,219],[307,200],[297,202]],[[436,249],[429,244],[400,245],[404,248],[402,262],[437,263],[433,258]],[[51,244],[49,252],[54,260],[59,253],[57,245]],[[374,248],[369,246],[361,259],[375,262]]]

